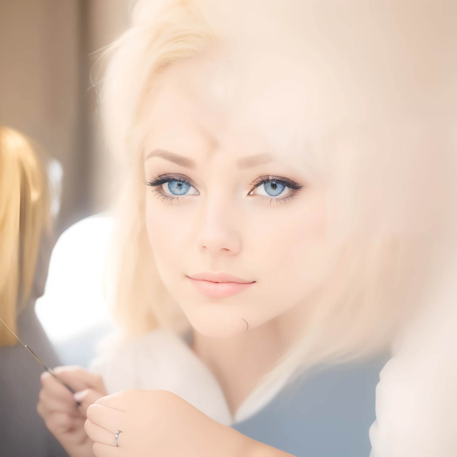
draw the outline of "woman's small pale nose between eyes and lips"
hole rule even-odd
[[[208,202],[198,234],[197,243],[200,250],[213,255],[238,254],[242,243],[237,219],[234,211],[222,202]]]

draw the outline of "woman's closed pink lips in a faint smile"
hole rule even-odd
[[[255,283],[225,273],[198,273],[188,278],[198,292],[212,298],[233,297]]]

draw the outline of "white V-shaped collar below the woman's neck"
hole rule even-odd
[[[158,329],[135,339],[112,337],[91,364],[109,394],[128,389],[167,390],[223,425],[248,419],[262,409],[287,383],[278,379],[260,396],[244,400],[232,417],[212,372],[173,332]]]

